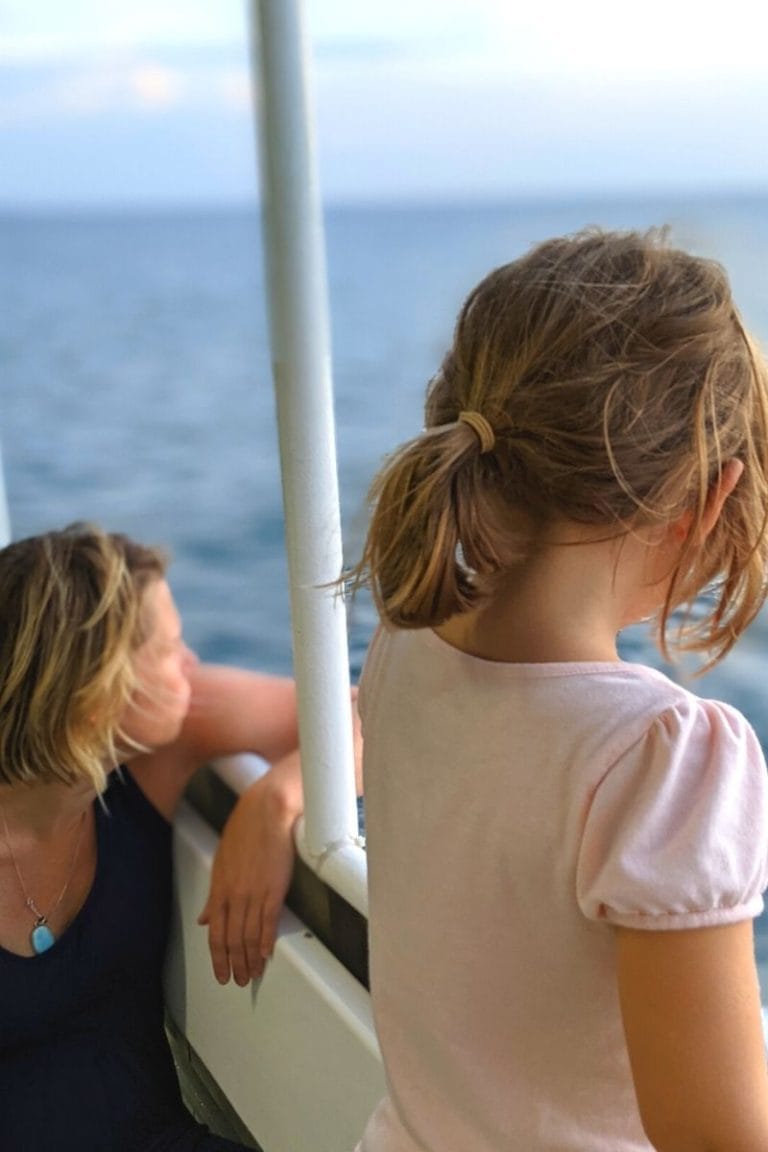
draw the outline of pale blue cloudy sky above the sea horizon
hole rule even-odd
[[[768,190],[754,0],[306,0],[328,203]],[[253,202],[241,0],[0,0],[0,210]]]

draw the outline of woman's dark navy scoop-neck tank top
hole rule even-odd
[[[124,770],[104,799],[75,919],[39,956],[0,948],[0,1149],[236,1149],[184,1108],[165,1036],[170,825]]]

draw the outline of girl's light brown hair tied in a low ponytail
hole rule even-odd
[[[720,660],[766,597],[768,374],[722,267],[666,235],[590,229],[492,272],[465,301],[426,401],[426,429],[375,478],[352,584],[383,620],[434,627],[481,604],[547,525],[622,535],[691,528],[659,614],[682,650]],[[479,412],[489,450],[459,419]],[[704,545],[707,497],[744,475]]]

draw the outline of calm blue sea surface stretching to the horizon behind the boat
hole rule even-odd
[[[426,381],[469,289],[530,244],[591,223],[671,225],[680,244],[727,266],[747,325],[768,344],[768,198],[328,213],[350,559],[368,482],[420,426]],[[167,544],[192,646],[290,670],[254,213],[0,218],[0,389],[15,536],[91,518]],[[697,690],[740,707],[768,750],[767,620]],[[372,627],[362,600],[350,619],[355,675]],[[624,652],[659,666],[641,631]]]

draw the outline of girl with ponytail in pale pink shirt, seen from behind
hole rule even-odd
[[[768,785],[721,660],[766,596],[768,371],[727,276],[590,230],[462,308],[352,583],[371,990],[362,1152],[755,1152]],[[702,596],[704,593],[704,596]]]

